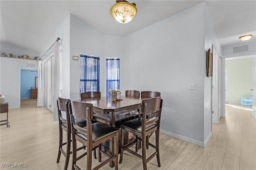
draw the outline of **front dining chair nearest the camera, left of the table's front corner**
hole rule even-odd
[[[96,166],[97,170],[110,161],[114,161],[115,170],[118,170],[118,128],[106,125],[104,123],[92,123],[93,118],[93,105],[91,103],[84,103],[79,101],[72,101],[69,103],[69,113],[72,123],[72,145],[73,145],[73,160],[72,170],[80,168],[76,164],[77,160],[87,155],[86,169],[92,169],[92,150],[98,148],[98,152],[106,155],[107,160]],[[86,127],[81,127],[76,123],[75,118],[86,119]],[[114,138],[114,153],[108,154],[99,148],[99,144]],[[80,156],[76,156],[76,142],[82,143],[87,147],[87,152]]]

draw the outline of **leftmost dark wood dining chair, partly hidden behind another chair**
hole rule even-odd
[[[64,170],[67,170],[68,168],[68,162],[70,158],[70,154],[72,154],[72,151],[70,151],[71,146],[71,121],[70,121],[70,115],[68,108],[66,107],[66,103],[69,103],[70,99],[63,99],[58,97],[57,99],[57,108],[58,108],[58,117],[59,117],[59,133],[60,133],[60,139],[59,139],[59,151],[58,151],[58,157],[57,157],[57,163],[60,161],[60,155],[61,153],[65,156],[65,165]],[[65,117],[62,117],[61,112],[65,112]],[[77,120],[79,122],[80,126],[85,127],[86,126],[86,120]],[[63,130],[66,131],[66,142],[63,143]],[[66,144],[66,151],[63,150],[62,146]],[[85,146],[82,146],[78,148],[78,150],[81,150],[85,148]],[[96,156],[96,152],[94,153],[94,156]]]

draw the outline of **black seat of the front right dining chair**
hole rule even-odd
[[[128,129],[134,130],[135,132],[141,133],[142,132],[142,118],[138,117],[129,121],[126,121],[122,123],[123,127],[126,127]],[[152,123],[150,125],[146,126],[146,131],[156,127],[156,123]]]

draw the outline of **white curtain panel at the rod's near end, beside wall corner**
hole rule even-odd
[[[54,44],[54,62],[53,62],[53,121],[58,121],[57,98],[61,97],[61,43]]]

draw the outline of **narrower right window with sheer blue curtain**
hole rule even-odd
[[[106,97],[110,98],[110,93],[108,89],[112,87],[113,90],[119,89],[119,58],[107,58],[106,65]]]

